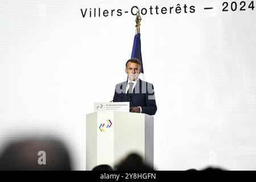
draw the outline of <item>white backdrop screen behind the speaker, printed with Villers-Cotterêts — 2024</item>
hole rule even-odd
[[[126,79],[131,7],[178,3],[195,13],[141,15],[158,106],[155,168],[256,169],[256,10],[223,12],[223,1],[1,1],[0,148],[22,134],[53,135],[84,170],[85,115]],[[82,18],[94,7],[123,14]]]

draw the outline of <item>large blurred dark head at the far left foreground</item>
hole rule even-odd
[[[29,139],[10,143],[0,155],[0,170],[71,169],[67,148],[53,139]]]

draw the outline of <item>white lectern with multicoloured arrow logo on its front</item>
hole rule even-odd
[[[115,166],[136,152],[154,166],[154,118],[141,113],[97,111],[86,115],[86,170]]]

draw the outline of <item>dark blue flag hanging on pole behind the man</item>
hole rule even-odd
[[[137,58],[141,61],[141,74],[139,75],[139,78],[141,78],[141,80],[144,80],[144,70],[141,56],[141,34],[136,34],[134,36],[133,51],[131,52],[131,58]]]

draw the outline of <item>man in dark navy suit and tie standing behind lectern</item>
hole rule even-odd
[[[141,61],[137,58],[126,62],[125,72],[127,81],[115,86],[114,102],[130,102],[130,112],[155,115],[157,107],[155,102],[154,86],[139,79]]]

